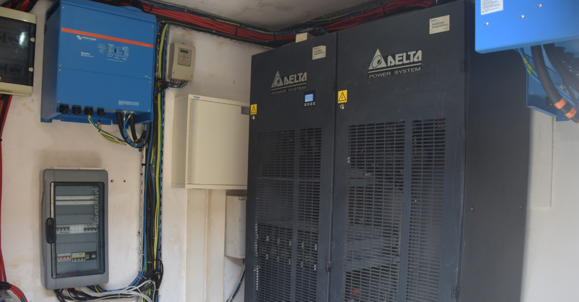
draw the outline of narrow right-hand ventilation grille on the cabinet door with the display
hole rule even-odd
[[[295,301],[316,301],[320,224],[321,128],[299,131]]]

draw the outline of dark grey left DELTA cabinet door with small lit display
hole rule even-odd
[[[328,300],[335,64],[335,34],[252,59],[246,301]]]

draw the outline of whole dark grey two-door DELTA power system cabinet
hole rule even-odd
[[[473,38],[456,1],[253,57],[246,301],[521,299],[525,68]]]

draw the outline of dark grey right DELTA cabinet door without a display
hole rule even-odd
[[[453,301],[464,18],[458,1],[339,34],[330,301]]]

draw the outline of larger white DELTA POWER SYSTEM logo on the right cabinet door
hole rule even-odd
[[[376,49],[370,67],[368,67],[368,79],[417,72],[420,71],[421,68],[422,50],[412,50],[405,53],[382,56],[380,49]]]

